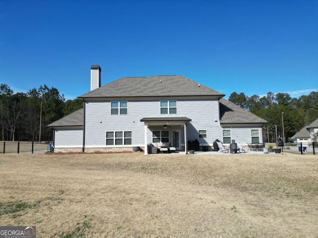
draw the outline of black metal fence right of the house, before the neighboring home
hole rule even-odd
[[[276,143],[266,143],[268,148],[276,149]],[[301,154],[301,155],[318,155],[318,142],[300,142],[300,143],[279,143],[278,146],[282,152]]]

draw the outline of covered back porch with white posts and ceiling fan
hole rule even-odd
[[[145,155],[149,154],[148,145],[151,143],[169,143],[177,151],[187,153],[187,123],[191,119],[186,117],[157,117],[143,118],[140,121],[145,123]]]

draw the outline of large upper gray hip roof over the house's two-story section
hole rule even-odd
[[[225,95],[181,75],[125,77],[92,90],[79,98],[164,97]]]

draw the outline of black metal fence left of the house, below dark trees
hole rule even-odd
[[[52,150],[50,142],[0,141],[0,154],[46,153]]]

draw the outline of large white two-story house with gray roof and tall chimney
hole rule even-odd
[[[51,124],[54,151],[132,151],[148,154],[152,142],[188,151],[224,144],[262,143],[268,123],[223,99],[224,94],[180,75],[124,77],[100,87],[101,68],[91,66],[91,91],[83,109]]]

